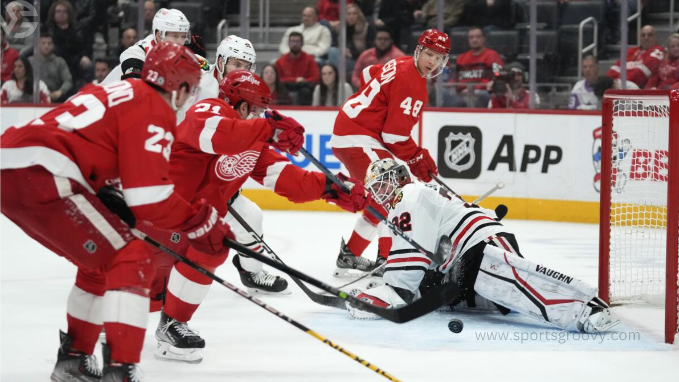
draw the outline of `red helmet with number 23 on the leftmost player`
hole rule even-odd
[[[167,92],[189,85],[189,93],[196,94],[200,84],[200,63],[191,50],[181,45],[160,41],[146,56],[141,78]]]

